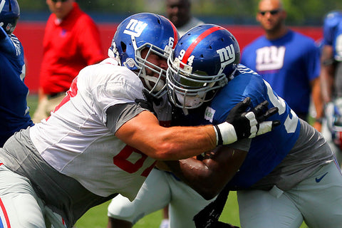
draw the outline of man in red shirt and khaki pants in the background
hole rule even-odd
[[[33,123],[47,118],[82,68],[105,56],[100,32],[75,0],[46,0],[51,16],[43,38],[39,102]]]

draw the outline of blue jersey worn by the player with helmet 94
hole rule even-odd
[[[252,139],[239,172],[228,183],[232,190],[250,187],[274,170],[294,146],[301,128],[296,113],[272,90],[269,83],[242,64],[232,81],[219,90],[212,102],[197,110],[190,110],[185,122],[191,125],[223,123],[229,111],[247,97],[252,100],[251,109],[264,100],[268,100],[269,108],[278,107],[279,113],[272,115],[269,120],[280,120],[281,125],[270,133]]]

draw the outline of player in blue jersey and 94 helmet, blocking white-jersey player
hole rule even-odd
[[[252,98],[251,108],[268,100],[269,107],[279,108],[270,119],[280,120],[281,125],[271,133],[241,140],[244,147],[227,145],[206,153],[203,162],[190,158],[167,162],[168,166],[206,199],[222,188],[226,195],[237,190],[242,227],[300,227],[303,221],[309,227],[342,224],[342,176],[331,148],[269,83],[238,64],[239,56],[237,40],[220,26],[188,31],[168,60],[170,100],[187,110],[188,119],[195,120],[191,125],[222,123],[224,115],[245,97]],[[230,147],[239,150],[229,152]],[[242,158],[241,165],[232,169],[229,164],[237,157]],[[214,202],[204,212],[218,205]],[[217,222],[209,214],[199,214],[195,219],[199,227],[204,227],[206,219]]]

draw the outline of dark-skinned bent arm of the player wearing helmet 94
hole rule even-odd
[[[246,155],[247,151],[221,146],[206,152],[202,161],[188,158],[162,163],[204,199],[212,199],[232,180]]]

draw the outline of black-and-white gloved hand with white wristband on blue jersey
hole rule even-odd
[[[217,132],[217,145],[227,145],[242,138],[254,138],[280,125],[279,120],[265,121],[266,118],[278,112],[276,107],[267,108],[269,104],[267,100],[246,112],[249,103],[251,103],[251,98],[248,97],[237,103],[230,110],[226,121],[214,126]]]

